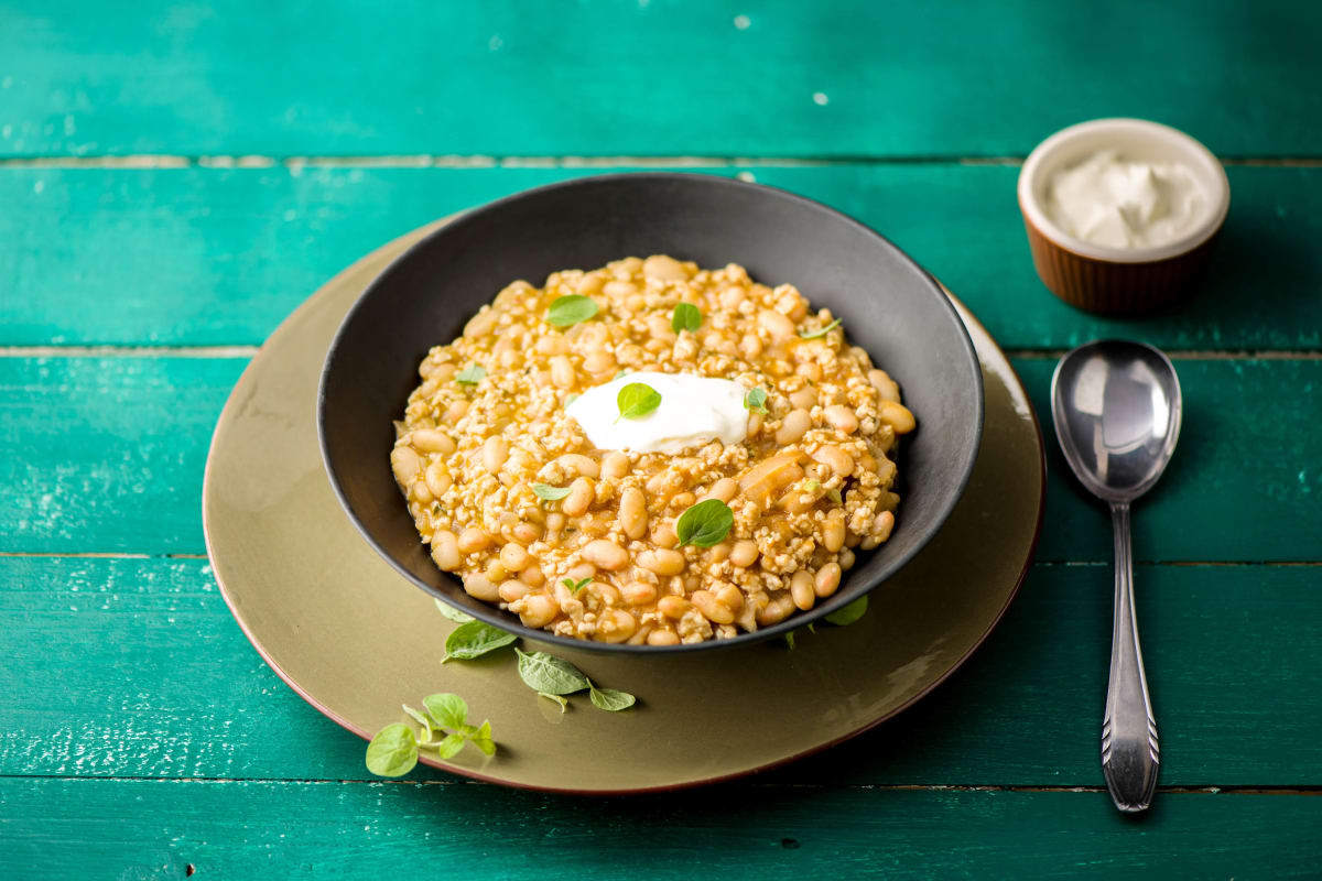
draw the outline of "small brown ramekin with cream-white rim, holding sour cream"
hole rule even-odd
[[[1100,149],[1188,166],[1207,194],[1203,221],[1174,242],[1145,248],[1104,247],[1064,232],[1046,210],[1051,176]],[[1188,135],[1141,119],[1099,119],[1056,132],[1025,161],[1018,190],[1042,281],[1066,302],[1101,314],[1153,312],[1198,287],[1229,210],[1229,182],[1216,157]]]

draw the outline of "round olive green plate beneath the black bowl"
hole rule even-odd
[[[455,626],[399,577],[341,511],[317,452],[317,379],[349,305],[432,227],[361,259],[290,316],[221,413],[202,495],[206,546],[239,626],[308,703],[361,737],[405,721],[401,701],[452,691],[490,719],[494,758],[467,748],[457,774],[509,786],[625,793],[710,783],[858,734],[925,695],[1005,613],[1042,520],[1042,433],[1005,355],[961,308],[986,382],[973,479],[943,531],[871,594],[849,627],[728,651],[646,658],[558,652],[639,696],[567,713],[518,678],[510,650],[440,664]],[[919,415],[921,419],[921,415]],[[903,506],[899,527],[904,528]]]

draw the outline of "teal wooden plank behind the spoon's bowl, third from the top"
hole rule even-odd
[[[1052,362],[1015,365],[1038,412],[1050,413]],[[233,358],[0,358],[0,461],[8,468],[0,551],[202,552],[202,465],[242,366]],[[1322,559],[1322,436],[1276,416],[1315,399],[1322,361],[1181,361],[1179,374],[1185,432],[1162,483],[1136,509],[1137,559]],[[1104,509],[1050,448],[1039,559],[1109,560]]]

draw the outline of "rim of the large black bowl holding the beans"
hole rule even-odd
[[[914,260],[914,258],[906,254],[899,246],[896,246],[888,238],[886,238],[876,230],[869,227],[867,225],[849,217],[843,211],[838,211],[833,207],[822,205],[821,202],[798,195],[797,193],[791,193],[789,190],[784,190],[776,186],[768,186],[765,184],[756,184],[751,181],[742,181],[738,178],[724,177],[718,174],[703,174],[698,172],[619,172],[611,174],[590,174],[586,177],[576,177],[566,181],[546,184],[542,186],[534,186],[526,190],[520,190],[510,195],[505,195],[492,202],[486,202],[484,205],[468,209],[465,211],[453,214],[451,215],[451,219],[448,219],[448,222],[446,222],[444,225],[436,227],[427,235],[418,239],[418,242],[411,244],[408,248],[401,252],[394,260],[387,263],[381,269],[381,272],[377,273],[371,279],[371,281],[368,283],[368,285],[362,289],[362,293],[358,295],[358,299],[354,300],[353,305],[349,306],[348,312],[345,312],[344,318],[341,318],[340,325],[336,328],[334,337],[330,339],[330,345],[327,347],[325,359],[323,361],[321,365],[321,375],[317,380],[317,408],[316,408],[317,448],[321,453],[323,469],[327,473],[336,501],[340,503],[340,509],[349,518],[349,522],[353,523],[354,528],[358,531],[358,535],[362,536],[362,539],[377,552],[377,555],[382,560],[385,560],[395,572],[403,576],[414,586],[420,588],[423,592],[428,593],[435,600],[444,602],[446,605],[456,610],[460,610],[465,614],[469,614],[473,618],[483,621],[484,623],[500,627],[501,630],[512,633],[529,642],[554,645],[570,651],[588,651],[596,654],[633,655],[633,656],[680,655],[694,651],[717,651],[722,649],[734,649],[736,646],[748,646],[756,642],[771,639],[773,637],[789,633],[791,630],[797,630],[798,627],[818,621],[826,617],[828,614],[839,610],[845,605],[849,605],[849,602],[846,602],[842,596],[843,592],[837,592],[836,594],[829,597],[825,602],[816,605],[806,612],[796,612],[784,621],[781,621],[780,623],[772,625],[769,627],[761,627],[752,633],[740,633],[735,637],[731,637],[730,639],[705,639],[702,642],[678,643],[674,646],[649,646],[649,645],[635,646],[627,643],[607,643],[591,639],[578,639],[574,637],[562,637],[559,634],[553,634],[547,630],[537,630],[533,627],[527,627],[521,621],[518,621],[517,616],[512,616],[508,612],[502,612],[501,609],[497,609],[496,606],[479,600],[472,600],[471,604],[464,604],[463,606],[456,605],[452,597],[444,594],[431,584],[427,584],[426,581],[418,579],[412,572],[408,571],[407,567],[405,567],[399,560],[397,560],[391,553],[389,553],[386,548],[381,546],[379,542],[377,542],[375,536],[371,534],[368,524],[364,523],[358,518],[357,512],[353,510],[353,506],[349,503],[345,490],[341,486],[340,476],[336,472],[334,462],[330,457],[328,448],[328,439],[327,439],[327,380],[330,374],[332,366],[334,363],[336,355],[340,350],[340,346],[344,342],[348,329],[353,322],[354,317],[357,316],[358,310],[365,308],[365,304],[371,297],[371,295],[377,291],[379,285],[383,284],[383,280],[387,279],[398,265],[410,260],[415,252],[426,250],[435,238],[446,235],[447,232],[451,232],[455,229],[461,229],[463,225],[472,223],[476,218],[500,211],[506,205],[526,198],[533,198],[535,195],[541,195],[549,192],[574,189],[578,186],[588,186],[594,184],[621,184],[625,181],[676,181],[676,180],[685,182],[694,182],[694,184],[701,182],[702,185],[706,186],[727,186],[731,189],[756,190],[776,198],[797,202],[804,207],[808,207],[809,210],[825,214],[828,217],[833,217],[834,219],[838,219],[846,223],[847,226],[854,227],[863,235],[876,239],[882,246],[888,248],[896,258],[899,258],[903,263],[907,263],[911,268],[914,268],[917,272],[919,279],[921,279],[925,283],[931,295],[937,299],[937,302],[940,304],[939,308],[944,309],[951,321],[954,322],[954,326],[958,330],[957,338],[960,341],[960,346],[964,350],[966,359],[969,359],[969,362],[973,365],[974,384],[976,384],[976,395],[974,395],[976,412],[973,413],[974,417],[973,436],[969,444],[969,453],[965,457],[965,461],[960,462],[960,473],[956,481],[954,491],[951,493],[949,498],[947,498],[943,502],[943,505],[936,509],[927,538],[916,543],[908,551],[900,553],[895,560],[892,560],[886,572],[871,579],[869,582],[865,582],[858,594],[850,598],[849,602],[853,602],[859,597],[867,596],[878,586],[884,584],[891,576],[896,575],[915,556],[917,556],[917,553],[923,551],[923,548],[927,547],[927,544],[933,538],[936,538],[937,532],[940,532],[941,527],[949,519],[951,512],[954,510],[956,505],[958,505],[960,499],[964,497],[969,481],[973,477],[973,470],[977,464],[978,452],[982,445],[986,400],[985,400],[985,390],[982,382],[982,363],[978,359],[977,350],[973,346],[973,339],[969,335],[968,328],[965,326],[962,318],[960,317],[958,310],[954,308],[954,304],[951,301],[951,297],[947,295],[945,288],[932,276],[932,273],[924,269],[916,260]],[[452,579],[455,577],[448,572],[443,572],[443,575]],[[457,581],[457,579],[455,580]]]

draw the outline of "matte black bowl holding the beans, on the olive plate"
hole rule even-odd
[[[900,456],[891,539],[859,553],[839,590],[810,612],[734,639],[623,646],[531,630],[473,600],[436,568],[390,470],[401,419],[427,350],[514,279],[669,254],[702,267],[740,263],[830,306],[850,342],[899,382],[917,416]],[[447,223],[377,276],[327,353],[317,399],[321,456],[349,519],[406,579],[475,618],[543,643],[612,652],[676,652],[765,639],[863,596],[936,535],[968,483],[982,433],[982,371],[954,308],[903,251],[861,223],[783,190],[706,174],[608,174],[554,184]],[[369,589],[368,585],[364,585]]]

